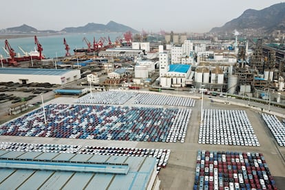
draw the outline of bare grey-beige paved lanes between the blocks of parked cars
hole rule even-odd
[[[56,98],[53,103],[72,103],[74,98]],[[130,103],[127,103],[130,105]],[[161,180],[160,189],[193,189],[196,156],[198,149],[213,151],[254,151],[264,154],[271,173],[277,180],[277,187],[284,189],[285,180],[285,162],[282,156],[285,155],[285,148],[278,147],[271,133],[266,128],[260,113],[245,107],[235,105],[224,105],[222,103],[213,103],[204,98],[205,109],[244,109],[246,111],[251,125],[260,142],[260,147],[242,147],[229,145],[202,145],[198,144],[198,133],[200,127],[200,107],[201,101],[196,101],[192,109],[191,120],[184,143],[167,142],[130,142],[114,140],[79,140],[63,138],[35,138],[35,137],[17,137],[0,136],[0,141],[6,142],[33,142],[33,143],[56,143],[69,145],[93,145],[93,146],[116,146],[116,147],[141,147],[141,148],[162,148],[171,149],[167,167],[161,169],[159,178]]]

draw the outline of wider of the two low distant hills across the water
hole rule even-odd
[[[88,33],[88,32],[138,32],[127,25],[109,21],[107,25],[99,23],[87,23],[85,26],[64,28],[61,32],[67,33]]]

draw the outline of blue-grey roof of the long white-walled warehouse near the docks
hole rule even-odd
[[[31,69],[31,68],[0,68],[0,74],[33,74],[33,75],[63,75],[71,70]]]

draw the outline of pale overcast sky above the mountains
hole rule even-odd
[[[115,21],[147,32],[209,32],[251,8],[262,10],[275,0],[3,0],[0,29],[30,25],[62,30],[87,23]]]

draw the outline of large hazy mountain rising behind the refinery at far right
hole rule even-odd
[[[210,33],[258,32],[271,33],[274,30],[285,31],[285,3],[277,3],[263,10],[249,9],[222,27],[212,28]]]

